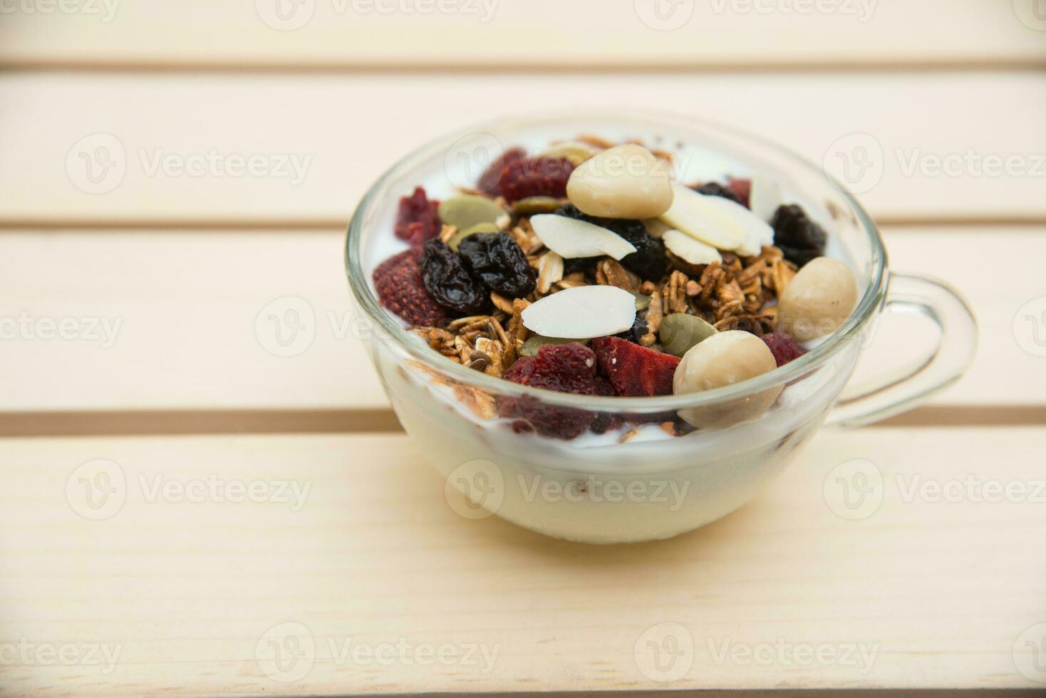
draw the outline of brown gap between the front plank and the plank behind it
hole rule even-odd
[[[871,426],[1040,426],[1046,405],[926,405]],[[0,438],[188,436],[203,434],[367,434],[403,427],[388,410],[115,410],[0,413]]]

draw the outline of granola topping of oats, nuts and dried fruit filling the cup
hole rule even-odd
[[[822,257],[824,231],[772,183],[685,186],[670,166],[638,143],[581,138],[536,155],[511,148],[475,189],[442,202],[417,187],[394,229],[409,249],[374,272],[379,299],[450,360],[560,392],[715,387],[680,364],[717,335],[708,346],[734,355],[756,342],[755,373],[801,355],[796,332],[778,331],[782,295],[808,263],[835,262]],[[477,414],[515,418],[519,431],[572,438],[621,425],[464,392]],[[702,426],[687,421],[669,416],[664,428]]]

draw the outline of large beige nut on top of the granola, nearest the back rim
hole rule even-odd
[[[667,163],[629,143],[583,162],[567,181],[570,203],[601,218],[656,218],[672,206]]]

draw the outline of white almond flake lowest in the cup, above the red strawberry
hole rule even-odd
[[[523,324],[530,331],[568,339],[623,332],[635,319],[635,296],[617,286],[565,288],[523,310]]]

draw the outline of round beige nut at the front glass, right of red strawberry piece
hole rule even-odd
[[[699,393],[731,386],[773,371],[777,362],[759,338],[741,330],[712,334],[683,355],[676,367],[673,393]],[[783,386],[703,408],[680,410],[679,416],[699,428],[722,428],[751,421],[765,413]]]

